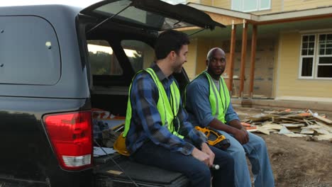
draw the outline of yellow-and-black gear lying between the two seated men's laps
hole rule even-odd
[[[206,135],[208,143],[211,146],[226,150],[231,145],[231,142],[229,142],[225,136],[221,135],[220,132],[214,130],[213,128],[201,128],[196,126],[195,129],[203,132],[204,135]]]

